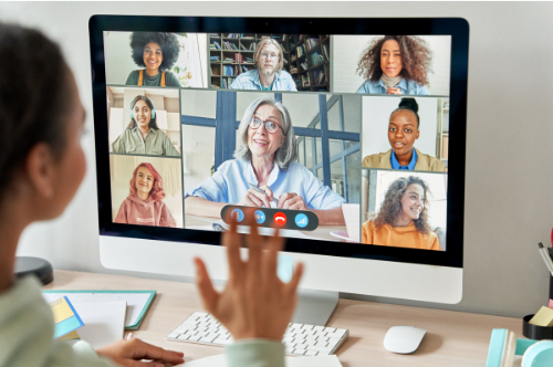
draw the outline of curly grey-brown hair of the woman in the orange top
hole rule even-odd
[[[428,187],[428,184],[426,184],[422,179],[415,176],[400,177],[392,182],[388,191],[386,191],[386,195],[384,196],[384,202],[382,203],[380,211],[374,220],[374,224],[377,231],[379,231],[384,227],[384,224],[395,226],[403,212],[401,198],[405,191],[407,191],[409,185],[413,184],[420,185],[422,187],[422,190],[425,190],[422,211],[420,212],[418,219],[415,220],[415,227],[422,234],[427,234],[430,232],[430,224],[428,224],[428,196],[430,193],[430,188]]]

